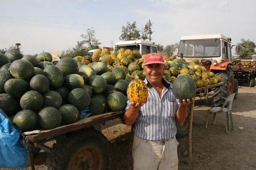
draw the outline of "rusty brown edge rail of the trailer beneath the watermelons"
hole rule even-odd
[[[123,111],[119,111],[119,112],[103,113],[101,115],[94,115],[94,116],[86,117],[84,119],[80,119],[76,123],[60,126],[52,130],[40,131],[40,134],[28,135],[26,136],[26,138],[32,142],[40,142],[50,137],[72,132],[78,129],[82,129],[84,127],[90,127],[92,125],[102,123],[104,121],[121,117],[123,114],[124,114]]]

